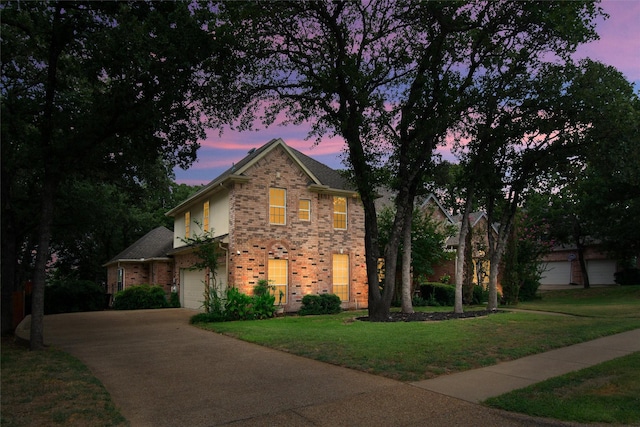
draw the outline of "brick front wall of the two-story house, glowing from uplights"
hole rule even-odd
[[[245,173],[247,183],[230,191],[230,286],[251,294],[260,279],[269,279],[270,258],[288,261],[287,311],[296,311],[306,294],[332,292],[333,254],[350,261],[350,296],[344,308],[367,306],[364,211],[348,197],[347,230],[333,229],[333,196],[308,190],[309,178],[278,147]],[[269,188],[287,190],[286,225],[269,224]],[[298,219],[298,201],[311,200],[311,220]]]

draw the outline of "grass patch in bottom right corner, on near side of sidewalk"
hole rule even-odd
[[[640,424],[640,353],[515,390],[494,408],[579,423]]]

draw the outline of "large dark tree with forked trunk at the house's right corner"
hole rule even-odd
[[[377,283],[374,200],[388,162],[396,217],[384,258],[395,271],[403,230],[435,147],[469,111],[480,76],[593,37],[594,2],[274,2],[225,4],[233,36],[254,61],[238,83],[252,100],[243,124],[311,121],[312,135],[340,135],[365,211],[369,317],[385,320],[394,280]],[[406,236],[406,234],[405,234]]]

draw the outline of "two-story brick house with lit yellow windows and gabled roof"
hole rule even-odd
[[[185,239],[210,231],[219,241],[216,282],[251,294],[258,280],[276,287],[276,302],[296,311],[306,294],[334,293],[343,308],[367,306],[364,211],[338,172],[269,141],[171,209],[171,283],[183,307],[202,307],[208,272]],[[112,260],[110,266],[116,266]],[[120,264],[121,265],[121,264]],[[116,277],[116,275],[112,275]],[[129,285],[134,283],[129,282]]]

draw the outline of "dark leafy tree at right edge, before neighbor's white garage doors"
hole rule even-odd
[[[584,287],[584,250],[599,244],[620,260],[640,253],[640,102],[633,86],[612,67],[587,63],[567,96],[565,110],[580,117],[583,149],[538,179],[527,203],[530,215],[550,224],[547,239],[576,247]]]

